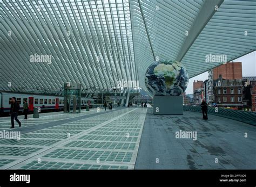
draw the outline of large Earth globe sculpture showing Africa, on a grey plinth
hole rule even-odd
[[[154,96],[179,96],[185,92],[188,73],[181,62],[161,60],[147,68],[145,84]]]

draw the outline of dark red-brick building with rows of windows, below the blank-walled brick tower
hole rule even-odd
[[[219,107],[242,109],[242,80],[225,80],[221,75],[214,81],[214,101]]]

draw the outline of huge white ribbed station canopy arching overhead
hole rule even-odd
[[[255,1],[1,0],[0,90],[83,92],[139,81],[157,60],[181,61],[191,77],[256,49]],[[120,83],[120,82],[119,82]],[[146,90],[147,91],[147,90]]]

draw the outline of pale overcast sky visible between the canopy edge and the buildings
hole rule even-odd
[[[249,53],[247,55],[241,56],[238,59],[233,60],[234,62],[242,62],[242,76],[256,76],[256,51]],[[194,80],[205,81],[208,79],[208,72],[200,74],[196,77],[190,78],[186,94],[193,93],[193,82]]]

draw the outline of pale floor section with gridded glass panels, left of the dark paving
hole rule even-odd
[[[2,139],[0,169],[133,169],[146,110],[102,110],[97,116],[24,133],[21,140]],[[83,115],[45,115],[38,121],[29,119],[27,124],[35,125],[32,121],[36,121],[36,125],[43,126],[50,120],[54,124]]]

